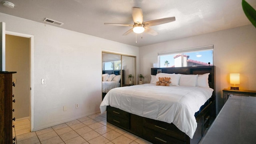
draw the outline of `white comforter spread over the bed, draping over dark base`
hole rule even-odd
[[[114,88],[106,94],[100,111],[105,112],[110,105],[138,116],[173,123],[193,138],[197,127],[194,114],[212,92],[212,88],[154,84]]]

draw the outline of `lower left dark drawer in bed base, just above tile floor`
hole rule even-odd
[[[107,114],[107,122],[128,130],[130,129],[130,120],[125,120],[112,114]]]

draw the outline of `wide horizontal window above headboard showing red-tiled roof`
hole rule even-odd
[[[213,65],[213,45],[158,53],[158,66],[186,67]]]

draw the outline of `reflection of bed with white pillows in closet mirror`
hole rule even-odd
[[[120,70],[102,70],[102,100],[109,90],[120,87],[121,81],[124,84],[124,70],[122,75]]]

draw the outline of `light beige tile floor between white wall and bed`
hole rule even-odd
[[[94,114],[36,132],[16,136],[17,144],[152,144]]]

